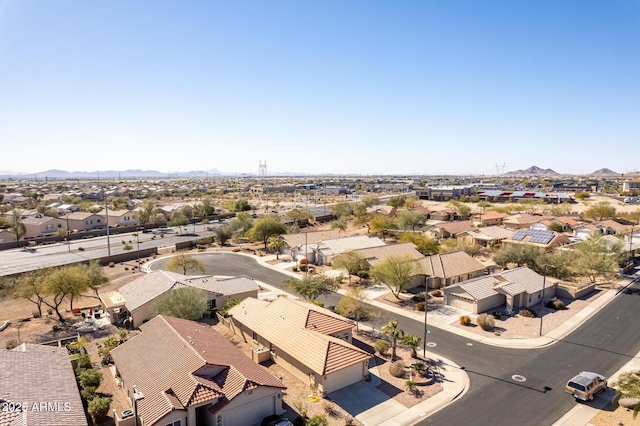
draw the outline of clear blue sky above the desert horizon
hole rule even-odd
[[[0,0],[0,170],[637,171],[640,1]]]

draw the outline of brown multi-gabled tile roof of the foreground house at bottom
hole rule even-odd
[[[140,329],[112,356],[125,387],[136,385],[144,394],[138,411],[145,424],[205,401],[224,406],[256,386],[284,388],[206,324],[160,315]]]

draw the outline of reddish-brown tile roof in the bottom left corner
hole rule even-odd
[[[0,425],[87,425],[65,348],[23,343],[12,350],[0,350],[0,395],[0,400],[27,403],[22,414],[0,410]],[[42,403],[48,404],[46,411],[33,409],[33,404],[40,407]],[[57,408],[49,409],[56,407],[54,404]]]

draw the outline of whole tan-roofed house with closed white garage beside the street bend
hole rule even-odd
[[[354,322],[312,303],[244,299],[229,309],[231,329],[324,395],[365,380],[372,355],[351,344]],[[261,360],[262,361],[262,360]]]

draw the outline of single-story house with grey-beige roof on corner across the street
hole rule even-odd
[[[445,287],[444,303],[474,314],[506,305],[507,309],[528,308],[555,296],[556,282],[521,267],[494,275],[473,278]]]

